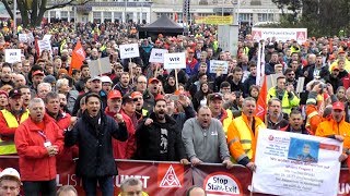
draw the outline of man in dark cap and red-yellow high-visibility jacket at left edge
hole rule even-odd
[[[10,91],[9,106],[9,109],[0,112],[0,155],[16,154],[13,143],[14,134],[19,125],[30,117],[30,111],[23,107],[22,94],[19,89]]]

